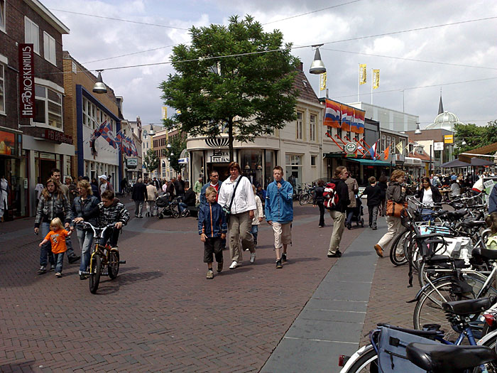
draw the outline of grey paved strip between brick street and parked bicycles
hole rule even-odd
[[[378,261],[373,244],[385,232],[386,221],[379,218],[378,230],[364,229],[349,245],[261,372],[339,372],[339,355],[359,349]]]

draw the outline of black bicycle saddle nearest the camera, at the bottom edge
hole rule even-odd
[[[405,352],[410,362],[434,373],[460,372],[497,358],[496,352],[485,346],[425,345],[413,342],[405,348]]]

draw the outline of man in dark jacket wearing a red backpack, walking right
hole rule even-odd
[[[324,207],[329,210],[329,216],[333,219],[333,232],[328,249],[329,258],[342,256],[338,247],[345,227],[345,210],[350,203],[349,188],[345,183],[348,177],[347,169],[344,166],[338,166],[335,169],[335,177],[324,187]]]

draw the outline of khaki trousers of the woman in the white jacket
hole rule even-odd
[[[242,261],[241,252],[243,249],[249,249],[251,253],[256,252],[253,247],[253,237],[251,234],[252,220],[249,217],[249,211],[229,216],[228,237],[229,237],[229,254],[231,261]],[[241,239],[241,247],[240,247]]]

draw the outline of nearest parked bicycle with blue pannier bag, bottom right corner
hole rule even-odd
[[[424,330],[378,324],[370,333],[371,344],[350,358],[341,355],[340,373],[354,372],[497,372],[497,353],[477,345],[467,322],[474,313],[491,308],[497,298],[469,299],[443,303],[450,325],[459,336],[444,339],[440,325],[427,324]],[[467,339],[469,346],[461,344]]]

